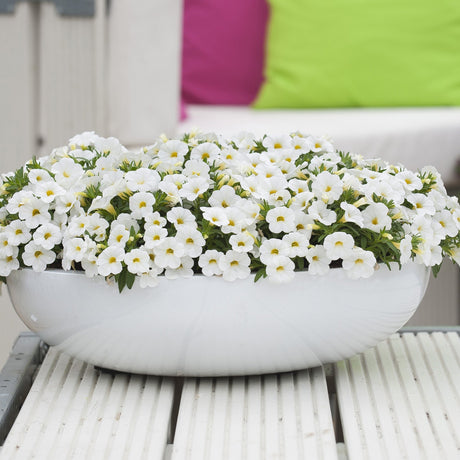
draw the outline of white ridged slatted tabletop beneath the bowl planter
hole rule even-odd
[[[459,459],[459,332],[395,334],[327,377],[112,374],[51,348],[0,459]]]

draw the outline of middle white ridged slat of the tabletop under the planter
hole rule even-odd
[[[186,379],[172,459],[336,459],[321,368]]]

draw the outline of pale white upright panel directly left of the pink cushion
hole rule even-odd
[[[108,33],[108,130],[144,145],[177,123],[181,0],[113,1]]]

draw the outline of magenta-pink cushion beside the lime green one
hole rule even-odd
[[[185,0],[182,96],[195,104],[247,105],[262,83],[265,0]]]

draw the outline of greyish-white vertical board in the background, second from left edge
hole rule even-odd
[[[95,30],[93,18],[61,17],[51,3],[40,10],[39,133],[48,153],[94,129]]]

